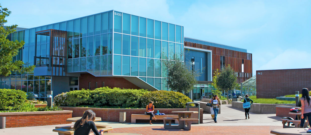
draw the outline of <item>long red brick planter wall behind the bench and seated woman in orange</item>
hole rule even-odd
[[[144,114],[146,109],[107,109],[107,108],[86,108],[86,107],[67,107],[60,106],[64,110],[72,110],[72,117],[82,117],[83,111],[91,109],[95,112],[96,117],[100,117],[102,121],[119,122],[119,112],[126,112],[126,122],[131,122],[132,114]],[[172,111],[185,111],[186,109],[155,109],[166,115],[173,115]],[[177,114],[174,114],[177,115]],[[163,122],[163,121],[162,121]],[[200,123],[203,123],[203,109],[200,109]]]

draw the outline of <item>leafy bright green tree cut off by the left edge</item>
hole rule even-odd
[[[24,62],[21,60],[13,61],[13,57],[19,52],[19,49],[25,44],[24,41],[10,41],[7,36],[15,32],[17,25],[6,26],[5,17],[11,14],[7,8],[2,8],[0,5],[0,75],[8,76],[11,72],[31,72],[35,66],[23,67]]]

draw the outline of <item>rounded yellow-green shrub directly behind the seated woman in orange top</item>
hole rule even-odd
[[[151,91],[144,94],[141,100],[142,108],[145,108],[149,101],[153,101],[156,108],[185,108],[187,102],[192,102],[186,95],[174,91]]]

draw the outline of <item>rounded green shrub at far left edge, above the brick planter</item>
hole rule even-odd
[[[26,92],[21,90],[0,89],[0,110],[15,110],[27,100]]]

